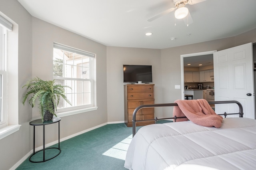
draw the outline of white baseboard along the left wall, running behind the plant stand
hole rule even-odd
[[[83,130],[81,132],[78,132],[78,133],[72,134],[70,136],[61,138],[60,142],[62,142],[64,140],[68,140],[68,139],[73,138],[75,136],[78,136],[78,135],[83,134],[85,132],[89,132],[89,131],[94,130],[96,128],[103,127],[103,126],[105,126],[107,124],[117,124],[117,123],[124,123],[124,121],[103,123],[101,125],[98,125],[98,126],[95,126],[95,127],[92,127],[92,128],[88,128],[88,129]],[[48,144],[45,144],[45,148],[47,148],[49,146],[52,146],[54,144],[57,144],[57,143],[58,143],[58,140],[55,140],[55,141],[50,142]],[[35,152],[38,151],[38,150],[42,150],[42,149],[43,149],[43,146],[39,146],[39,147],[35,148]],[[15,170],[16,168],[18,168],[18,166],[20,166],[20,164],[22,164],[22,162],[24,162],[24,160],[26,160],[32,153],[33,153],[33,150],[30,150],[30,152],[28,152],[21,160],[19,160],[14,166],[12,166],[12,168],[10,168],[10,170]]]

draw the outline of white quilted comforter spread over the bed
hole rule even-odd
[[[225,118],[220,128],[190,121],[138,130],[126,154],[132,170],[255,170],[256,120]]]

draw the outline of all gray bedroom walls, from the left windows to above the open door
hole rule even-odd
[[[10,10],[11,9],[11,10]],[[0,140],[0,164],[7,170],[32,150],[32,127],[29,122],[39,117],[38,111],[26,103],[22,105],[25,90],[22,86],[34,76],[52,79],[52,44],[62,43],[96,53],[96,87],[98,110],[62,117],[61,138],[107,122],[124,121],[123,64],[152,65],[156,103],[171,103],[181,99],[180,55],[202,51],[221,50],[248,42],[256,42],[256,29],[232,38],[185,45],[167,49],[106,47],[47,22],[34,18],[16,0],[1,0],[0,12],[16,22],[18,28],[18,118],[20,130]],[[168,109],[157,110],[157,115],[168,115]],[[46,126],[46,143],[57,140],[55,125]],[[37,131],[36,147],[42,145]]]

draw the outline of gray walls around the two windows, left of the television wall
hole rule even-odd
[[[34,76],[52,79],[53,42],[96,53],[98,110],[62,117],[60,138],[107,123],[106,46],[32,17],[17,0],[1,0],[0,12],[16,23],[14,30],[18,29],[17,32],[12,32],[18,37],[18,69],[10,74],[16,78],[12,81],[15,83],[15,92],[18,93],[17,99],[15,98],[18,108],[15,108],[18,112],[19,124],[22,126],[17,132],[0,140],[1,169],[8,170],[33,148],[32,127],[29,122],[39,118],[39,114],[37,108],[32,109],[28,103],[22,105],[21,101],[25,93],[22,86]],[[9,107],[9,110],[11,109]],[[55,128],[57,128],[55,124],[46,126],[46,144],[57,140]],[[36,133],[36,147],[42,146],[42,127],[37,127]]]

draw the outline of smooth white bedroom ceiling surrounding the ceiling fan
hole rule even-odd
[[[174,20],[173,0],[18,0],[34,17],[107,46],[163,49],[236,36],[256,28],[256,0],[189,5],[193,23]],[[145,36],[152,32],[152,36]],[[191,34],[188,36],[188,34]],[[170,38],[175,37],[172,41]]]

